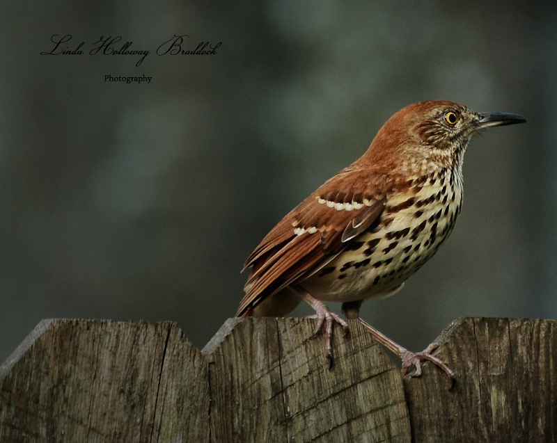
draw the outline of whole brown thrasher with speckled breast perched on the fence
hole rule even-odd
[[[284,316],[305,300],[323,329],[332,365],[332,328],[347,322],[323,302],[342,302],[402,358],[402,374],[430,360],[437,344],[411,353],[359,318],[363,300],[392,296],[453,230],[462,204],[462,159],[480,129],[526,122],[511,113],[476,113],[431,101],[395,113],[363,156],[290,211],[244,264],[251,274],[236,316]]]

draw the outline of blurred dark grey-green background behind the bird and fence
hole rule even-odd
[[[202,348],[262,236],[423,99],[528,124],[473,140],[455,232],[363,318],[416,351],[458,316],[557,318],[554,4],[29,3],[0,3],[0,362],[52,317],[177,321]],[[86,54],[40,55],[53,34]],[[222,45],[156,56],[173,34]],[[100,35],[151,54],[89,56]]]

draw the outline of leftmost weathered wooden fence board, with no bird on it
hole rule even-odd
[[[0,442],[208,436],[206,378],[173,323],[43,321],[0,369]]]

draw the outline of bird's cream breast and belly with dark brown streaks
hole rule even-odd
[[[462,205],[460,176],[437,176],[393,193],[379,223],[302,282],[323,301],[386,297],[430,259],[453,230]]]

